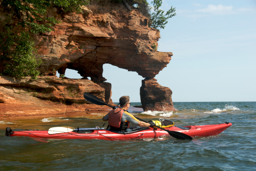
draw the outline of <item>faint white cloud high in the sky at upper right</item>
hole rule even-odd
[[[204,9],[198,9],[196,11],[198,12],[210,12],[215,14],[226,14],[226,13],[232,13],[233,6],[224,6],[222,4],[220,5],[208,5],[207,8]]]

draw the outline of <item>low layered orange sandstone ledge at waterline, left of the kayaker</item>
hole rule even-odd
[[[105,101],[104,88],[91,80],[62,79],[56,76],[38,77],[37,80],[27,77],[19,80],[0,76],[0,116],[67,115],[67,112],[68,115],[74,112],[83,115],[85,112],[104,113],[111,109],[90,104],[84,99],[84,92]]]

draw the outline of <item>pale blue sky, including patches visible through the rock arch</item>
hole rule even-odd
[[[172,100],[256,101],[256,1],[163,0],[161,9],[171,6],[177,15],[160,30],[158,50],[173,56],[155,78]],[[140,102],[144,78],[110,64],[103,69],[114,102],[123,95]]]

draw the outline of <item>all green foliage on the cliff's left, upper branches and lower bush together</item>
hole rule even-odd
[[[36,49],[29,33],[50,32],[54,30],[52,26],[59,23],[54,17],[46,17],[47,7],[57,7],[64,13],[80,13],[82,5],[88,3],[89,0],[2,0],[0,6],[9,13],[9,20],[18,18],[18,24],[8,24],[7,19],[0,28],[0,74],[36,77],[41,59],[35,57]]]

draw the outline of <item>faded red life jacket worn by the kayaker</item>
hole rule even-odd
[[[121,108],[111,110],[108,113],[108,124],[112,127],[123,129],[122,127],[124,126],[124,122],[121,121],[123,113],[124,113],[124,110]],[[128,127],[126,127],[126,129],[129,128],[130,126],[130,122],[128,121],[127,123],[128,123]]]

